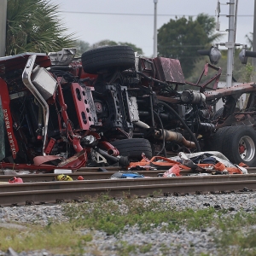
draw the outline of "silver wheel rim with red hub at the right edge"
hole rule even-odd
[[[250,161],[255,155],[255,144],[248,136],[241,137],[238,145],[238,152],[242,160]]]

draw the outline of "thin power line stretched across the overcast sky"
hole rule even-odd
[[[119,13],[98,13],[98,12],[82,12],[82,11],[59,11],[63,14],[81,14],[81,15],[126,15],[126,16],[154,16],[153,14],[119,14]],[[197,15],[158,15],[158,16],[197,16]],[[209,15],[215,17],[215,15]],[[226,16],[226,15],[222,15]],[[253,17],[253,15],[237,15],[239,17]]]

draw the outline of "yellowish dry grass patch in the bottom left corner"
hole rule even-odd
[[[52,253],[79,255],[91,241],[91,235],[82,235],[73,230],[71,224],[31,225],[26,230],[0,228],[0,248],[6,251],[12,247],[16,252],[46,249]]]

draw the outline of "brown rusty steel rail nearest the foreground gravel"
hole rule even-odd
[[[254,168],[255,170],[255,168]],[[250,169],[250,172],[254,172]],[[151,172],[152,171],[148,171]],[[147,173],[148,173],[147,172]],[[164,171],[163,171],[164,172]],[[78,172],[100,177],[106,172]],[[111,174],[109,172],[108,174]],[[157,171],[160,173],[160,170]],[[45,174],[44,174],[45,175]],[[47,174],[52,177],[56,174]],[[39,175],[43,176],[43,175]],[[39,177],[38,176],[38,177]],[[3,176],[1,176],[3,177]],[[0,177],[0,181],[1,181]],[[22,176],[23,177],[23,176]],[[109,176],[108,176],[109,177]],[[109,197],[185,195],[203,193],[248,192],[256,189],[256,174],[183,177],[146,177],[136,179],[88,179],[69,182],[2,183],[0,205],[19,206],[68,201],[84,201],[86,196]]]

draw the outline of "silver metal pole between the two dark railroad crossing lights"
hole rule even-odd
[[[227,78],[226,87],[232,86],[232,73],[233,73],[233,56],[235,48],[235,0],[230,0],[230,15],[229,15],[229,39],[225,43],[228,48],[227,56]]]

